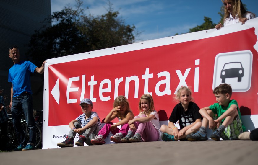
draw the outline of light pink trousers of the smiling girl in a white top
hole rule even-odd
[[[146,117],[146,115],[141,115],[140,117]],[[139,116],[135,116],[134,118],[139,118]],[[160,137],[159,132],[151,122],[134,122],[134,125],[137,128],[135,133],[139,133],[141,135],[142,141],[159,140],[159,137]],[[134,132],[131,129],[129,130]]]

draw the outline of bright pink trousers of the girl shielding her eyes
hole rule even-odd
[[[113,135],[116,133],[123,133],[123,137],[127,135],[127,132],[129,130],[129,125],[128,123],[124,124],[121,129],[116,128],[115,130],[111,130],[111,125],[113,125],[113,122],[106,123],[101,130],[98,132],[98,135],[102,135],[104,139],[108,136],[108,134],[111,132]]]

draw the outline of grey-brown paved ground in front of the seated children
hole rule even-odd
[[[10,165],[254,165],[258,141],[155,141],[0,153]]]

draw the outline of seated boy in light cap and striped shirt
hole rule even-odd
[[[78,133],[79,140],[75,142],[77,146],[84,146],[86,143],[88,146],[92,145],[90,140],[98,135],[98,131],[101,129],[101,121],[96,112],[92,111],[93,103],[90,99],[82,99],[80,103],[83,114],[69,123],[71,128],[65,141],[57,143],[59,147],[73,147],[74,137]],[[82,126],[81,126],[82,125]]]

